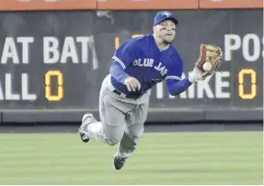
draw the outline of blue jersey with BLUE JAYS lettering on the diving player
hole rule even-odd
[[[160,51],[154,36],[150,34],[122,43],[112,60],[118,62],[129,76],[141,84],[137,92],[129,92],[124,83],[111,77],[113,86],[125,94],[144,94],[164,79],[167,86],[170,86],[170,83],[181,79],[184,70],[184,62],[174,46],[170,45],[165,51]]]

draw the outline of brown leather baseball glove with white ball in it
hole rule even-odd
[[[199,60],[195,66],[202,72],[202,80],[219,70],[222,64],[222,49],[212,44],[202,44]]]

